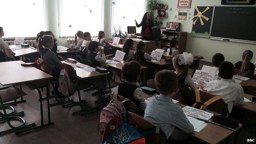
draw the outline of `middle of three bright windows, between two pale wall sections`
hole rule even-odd
[[[58,0],[59,37],[74,37],[78,30],[97,36],[103,12],[104,0]]]

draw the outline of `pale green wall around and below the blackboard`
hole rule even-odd
[[[178,0],[158,0],[158,3],[168,4],[168,8],[172,8],[171,11],[167,10],[167,12],[169,12],[169,17],[160,20],[163,22],[162,27],[166,27],[166,22],[175,21],[174,15],[175,10],[177,9]],[[194,5],[221,5],[221,0],[192,0],[190,9],[191,16],[194,15]],[[256,5],[252,6],[255,7]],[[215,53],[222,53],[225,56],[226,61],[235,63],[242,58],[242,53],[244,50],[252,50],[253,53],[255,54],[254,58],[252,59],[252,62],[254,63],[256,60],[256,45],[254,44],[217,41],[198,37],[191,37],[190,32],[192,31],[192,21],[190,21],[190,23],[187,24],[182,24],[181,31],[188,32],[186,51],[192,53],[193,55],[203,56],[205,58],[203,59],[204,61],[211,62],[212,56]]]

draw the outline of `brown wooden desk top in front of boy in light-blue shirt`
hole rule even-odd
[[[145,98],[148,98],[148,97],[149,95],[145,95]],[[181,106],[181,108],[186,106],[181,103],[176,103],[176,105]],[[241,127],[242,126],[240,126],[240,128]],[[213,123],[207,123],[207,126],[203,128],[199,133],[194,131],[194,134],[190,134],[190,135],[207,144],[218,144],[225,139],[233,142],[234,134],[235,134],[235,131],[233,130],[229,130],[221,126],[217,126]]]

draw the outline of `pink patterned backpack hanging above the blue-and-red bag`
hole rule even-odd
[[[130,101],[127,98],[123,98],[121,101],[118,101],[118,95],[113,94],[113,99],[110,103],[103,108],[100,112],[100,123],[98,124],[98,131],[101,135],[101,141],[103,138],[104,131],[107,127],[107,124],[113,117],[119,117],[122,119],[122,112],[126,111],[123,103]]]

